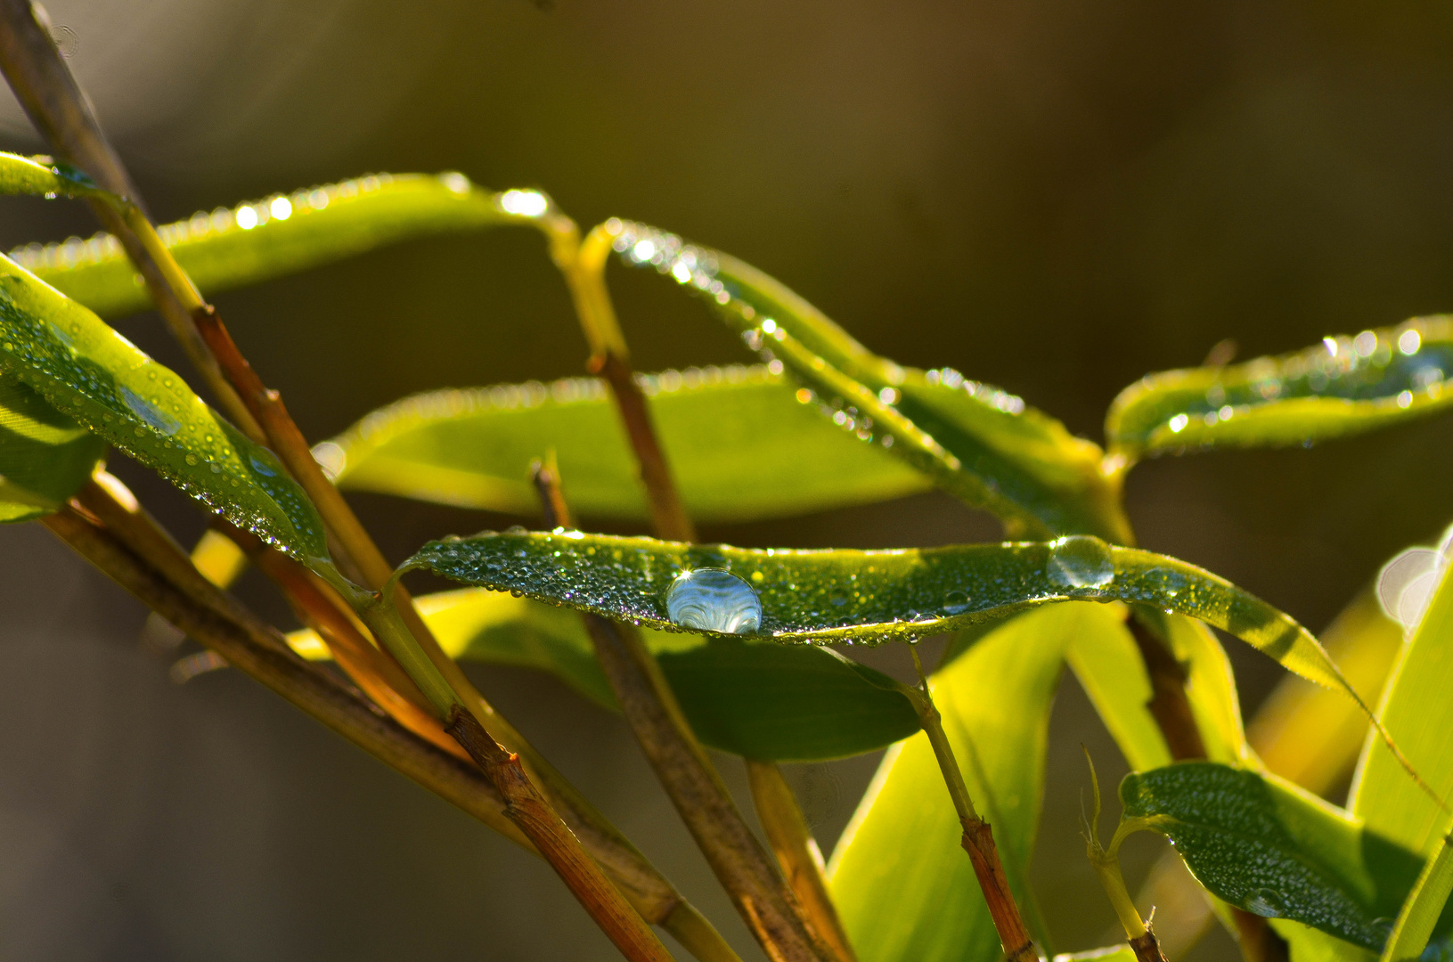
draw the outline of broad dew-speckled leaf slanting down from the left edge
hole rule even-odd
[[[0,257],[0,373],[234,525],[327,558],[323,523],[272,452],[80,304]]]

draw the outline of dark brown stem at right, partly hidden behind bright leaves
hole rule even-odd
[[[1151,679],[1151,700],[1146,702],[1146,709],[1159,727],[1171,759],[1175,761],[1205,759],[1206,741],[1196,725],[1190,699],[1186,698],[1189,677],[1186,666],[1175,660],[1170,645],[1148,622],[1132,613],[1128,625],[1141,650],[1145,673]],[[1229,908],[1245,962],[1287,962],[1287,945],[1266,918],[1235,905]]]

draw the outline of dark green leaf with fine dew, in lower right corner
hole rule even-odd
[[[1422,868],[1290,782],[1210,761],[1132,773],[1120,801],[1128,818],[1154,818],[1216,897],[1364,949],[1382,949]]]

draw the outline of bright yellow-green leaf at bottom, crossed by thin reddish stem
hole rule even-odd
[[[933,676],[933,699],[1019,904],[1045,779],[1049,708],[1065,647],[1113,631],[1117,607],[1056,605],[997,628]],[[918,734],[889,750],[828,866],[862,962],[1003,958],[943,773]]]

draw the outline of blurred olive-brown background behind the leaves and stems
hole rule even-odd
[[[1453,13],[1389,0],[51,0],[154,214],[365,171],[458,169],[644,219],[780,278],[870,347],[952,365],[1101,439],[1149,371],[1453,310]],[[0,147],[42,150],[9,93]],[[0,246],[89,235],[4,199]],[[642,369],[748,360],[693,301],[612,275]],[[586,349],[533,234],[379,251],[216,298],[311,439],[437,387],[556,378]],[[185,371],[154,315],[121,330]],[[182,539],[201,514],[113,464]],[[1314,629],[1453,516],[1453,419],[1312,450],[1165,458],[1141,542]],[[568,480],[567,480],[568,482]],[[401,559],[527,519],[355,500]],[[998,538],[940,496],[719,526],[742,545]],[[254,580],[243,596],[286,622]],[[185,686],[144,610],[44,529],[0,529],[0,955],[612,959],[549,870],[232,671]],[[1228,642],[1244,708],[1279,668]],[[902,652],[879,652],[892,667]],[[902,668],[904,666],[898,666]],[[758,959],[629,732],[549,679],[481,687]],[[1078,837],[1067,679],[1035,879],[1055,949],[1114,937]],[[719,757],[734,786],[740,763]],[[795,766],[831,850],[876,757]],[[1132,886],[1158,854],[1126,852]],[[1216,931],[1193,958],[1237,958]]]

